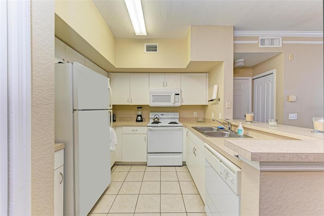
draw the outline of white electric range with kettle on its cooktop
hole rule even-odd
[[[182,166],[182,130],[179,113],[150,113],[147,166]]]

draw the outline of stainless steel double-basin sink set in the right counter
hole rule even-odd
[[[224,129],[219,129],[217,127],[192,127],[192,128],[207,137],[253,138],[252,136],[248,136],[248,135],[240,136],[235,132],[229,132]]]

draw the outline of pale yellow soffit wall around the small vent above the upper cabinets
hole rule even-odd
[[[158,44],[158,53],[144,53],[144,44]],[[118,68],[185,68],[185,39],[116,39]]]

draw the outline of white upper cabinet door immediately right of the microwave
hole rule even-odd
[[[181,74],[182,105],[206,105],[207,74]]]

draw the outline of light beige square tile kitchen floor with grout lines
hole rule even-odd
[[[89,216],[205,216],[187,167],[114,165]]]

